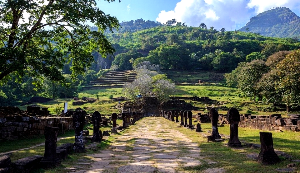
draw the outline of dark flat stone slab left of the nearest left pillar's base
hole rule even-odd
[[[13,172],[18,173],[30,172],[32,169],[39,166],[42,158],[42,156],[36,155],[18,159],[12,163],[12,170]]]

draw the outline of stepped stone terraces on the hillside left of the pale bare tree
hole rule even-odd
[[[133,70],[108,72],[91,81],[89,86],[83,89],[121,88],[125,83],[133,82],[136,76],[137,73]]]

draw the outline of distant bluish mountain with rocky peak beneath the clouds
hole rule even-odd
[[[269,37],[300,37],[300,17],[286,7],[276,7],[252,17],[240,31]]]

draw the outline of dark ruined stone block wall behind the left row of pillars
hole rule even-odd
[[[60,131],[73,129],[72,117],[47,117],[49,112],[28,106],[26,111],[17,107],[0,107],[0,140],[44,134],[45,126],[59,127]]]

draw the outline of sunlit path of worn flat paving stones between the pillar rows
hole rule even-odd
[[[93,163],[79,161],[76,172],[84,173],[177,173],[179,166],[197,166],[203,161],[216,163],[201,156],[201,148],[174,126],[166,126],[162,117],[146,117],[130,126],[117,143],[88,155]],[[183,127],[179,127],[183,128]],[[81,165],[81,166],[80,166]],[[84,165],[89,165],[86,168]],[[74,166],[76,167],[76,166]],[[72,171],[72,170],[70,170]],[[73,170],[75,171],[75,170]],[[184,171],[185,173],[188,171]],[[222,168],[210,168],[206,173],[222,173]]]

